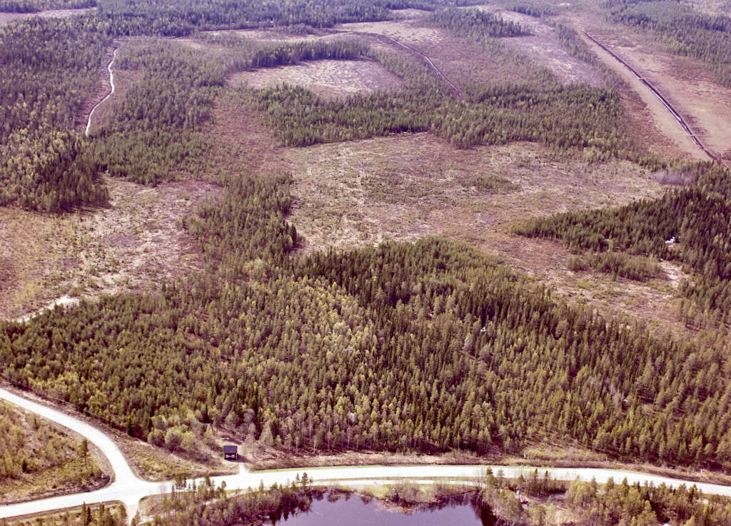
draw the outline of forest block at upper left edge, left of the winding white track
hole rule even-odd
[[[98,167],[72,133],[107,44],[78,20],[0,28],[0,205],[60,212],[107,200]]]

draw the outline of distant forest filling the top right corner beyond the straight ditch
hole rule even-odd
[[[731,18],[704,15],[677,1],[610,0],[615,20],[656,31],[678,54],[708,64],[719,83],[731,86]]]

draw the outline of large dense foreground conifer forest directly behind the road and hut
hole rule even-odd
[[[287,181],[227,188],[187,225],[210,265],[200,280],[5,324],[5,378],[191,454],[212,422],[292,450],[487,453],[563,436],[622,458],[731,461],[721,348],[569,307],[444,240],[300,261]]]

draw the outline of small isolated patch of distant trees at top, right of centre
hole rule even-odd
[[[481,9],[457,9],[455,7],[440,9],[429,15],[426,23],[477,40],[522,37],[530,34],[520,24],[505,21]]]

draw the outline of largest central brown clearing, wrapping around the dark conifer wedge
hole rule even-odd
[[[674,307],[677,267],[666,263],[674,281],[645,284],[572,272],[560,243],[510,233],[512,224],[535,216],[659,197],[665,188],[634,164],[557,159],[531,143],[455,150],[431,134],[317,145],[287,156],[297,167],[290,220],[306,250],[442,235],[605,313],[686,330]]]

